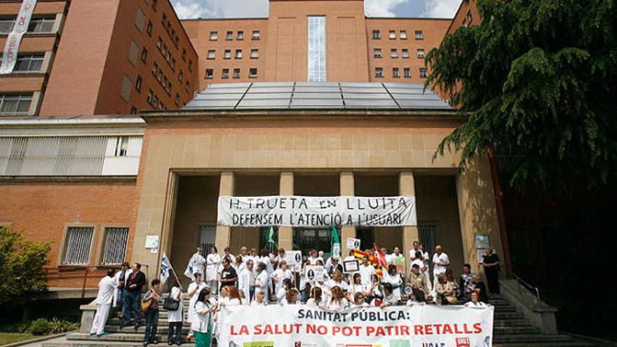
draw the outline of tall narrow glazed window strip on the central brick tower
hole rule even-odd
[[[325,82],[325,17],[308,17],[308,81]]]

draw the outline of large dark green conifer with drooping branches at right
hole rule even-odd
[[[489,148],[520,154],[510,177],[520,189],[614,179],[616,2],[477,0],[477,8],[480,25],[456,29],[426,57],[426,86],[463,119],[435,156],[461,150],[464,170]]]

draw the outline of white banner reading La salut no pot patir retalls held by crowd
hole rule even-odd
[[[219,346],[492,346],[494,307],[224,306]]]

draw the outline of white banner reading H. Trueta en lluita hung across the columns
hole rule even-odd
[[[415,196],[219,196],[229,226],[414,226]]]

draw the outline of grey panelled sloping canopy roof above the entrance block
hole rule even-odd
[[[255,82],[211,84],[183,109],[452,110],[421,83]]]

